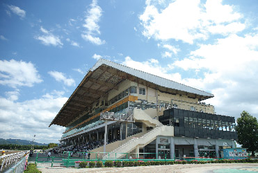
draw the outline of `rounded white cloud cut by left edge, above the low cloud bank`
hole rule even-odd
[[[31,62],[0,60],[0,84],[16,88],[40,82],[42,79]]]

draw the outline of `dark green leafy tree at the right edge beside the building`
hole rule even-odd
[[[247,111],[243,111],[236,122],[236,131],[239,136],[237,143],[248,148],[248,151],[252,152],[252,156],[255,156],[255,151],[258,149],[257,118],[251,116]]]

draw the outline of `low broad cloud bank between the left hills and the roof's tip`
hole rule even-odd
[[[51,120],[63,107],[67,98],[62,91],[53,91],[41,98],[17,102],[17,91],[0,97],[0,136],[1,138],[22,138],[40,143],[58,143],[65,127],[52,125]]]

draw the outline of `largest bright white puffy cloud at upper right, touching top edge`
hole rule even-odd
[[[228,35],[245,29],[239,21],[243,16],[222,1],[176,0],[166,8],[158,8],[146,1],[139,19],[145,37],[161,40],[175,39],[193,44],[195,39],[207,39],[209,34]],[[187,6],[186,6],[187,4]]]

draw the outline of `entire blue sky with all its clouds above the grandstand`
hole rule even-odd
[[[258,1],[1,1],[0,137],[58,142],[48,125],[99,58],[208,91],[258,118]]]

